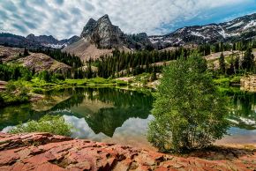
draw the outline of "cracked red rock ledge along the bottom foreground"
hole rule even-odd
[[[214,152],[207,157],[216,155]],[[256,152],[227,152],[207,160],[148,152],[129,146],[53,136],[0,133],[0,170],[256,170]]]

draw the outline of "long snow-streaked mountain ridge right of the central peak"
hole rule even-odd
[[[256,13],[253,13],[219,24],[184,26],[165,35],[149,36],[149,39],[154,47],[167,48],[174,45],[251,39],[256,36],[255,31]]]

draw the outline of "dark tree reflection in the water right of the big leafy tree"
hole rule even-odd
[[[241,129],[255,130],[256,124],[245,121],[256,122],[256,93],[236,93],[231,97],[231,101],[230,119],[237,121],[234,124]]]

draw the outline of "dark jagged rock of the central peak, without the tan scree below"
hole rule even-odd
[[[80,37],[94,43],[97,48],[126,47],[132,49],[152,46],[147,33],[125,34],[118,26],[112,25],[107,14],[97,21],[89,19]]]

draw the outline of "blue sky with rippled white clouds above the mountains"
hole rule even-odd
[[[109,14],[125,33],[169,33],[256,12],[256,0],[0,0],[0,32],[79,35],[90,18]]]

